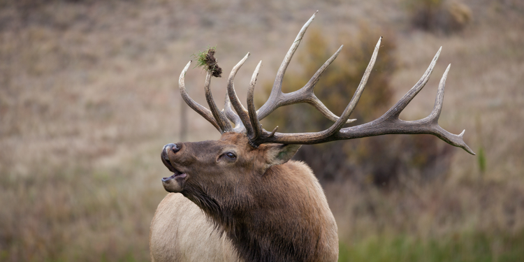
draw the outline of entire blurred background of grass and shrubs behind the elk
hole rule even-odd
[[[430,113],[451,63],[439,124],[465,129],[476,152],[423,135],[303,146],[296,159],[326,191],[340,261],[524,261],[521,0],[1,0],[0,261],[149,261],[150,221],[166,196],[162,146],[219,138],[177,91],[191,54],[216,46],[228,75],[251,52],[235,80],[241,98],[262,60],[261,106],[315,10],[284,91],[344,45],[315,91],[340,115],[384,36],[353,116],[369,122],[442,46],[400,117]],[[198,68],[186,76],[201,104],[204,80]],[[224,77],[212,80],[217,103],[225,89]],[[303,132],[330,123],[291,105],[263,124]]]

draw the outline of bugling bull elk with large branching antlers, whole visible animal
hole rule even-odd
[[[284,72],[315,14],[293,41],[277,71],[269,99],[259,110],[254,106],[253,96],[261,63],[249,84],[247,108],[240,103],[233,86],[235,75],[249,53],[229,75],[223,110],[218,109],[210,92],[212,73],[208,72],[204,86],[208,109],[187,94],[184,75],[191,61],[184,67],[179,78],[182,98],[221,133],[221,138],[163,147],[161,160],[173,175],[162,178],[164,189],[170,193],[159,204],[151,223],[152,261],[337,261],[337,224],[323,189],[305,163],[290,160],[300,145],[384,134],[426,133],[474,154],[463,141],[464,131],[455,135],[438,124],[449,66],[440,80],[430,115],[415,121],[399,119],[400,112],[428,82],[440,50],[419,82],[384,115],[366,124],[344,127],[355,120],[349,116],[377,59],[381,38],[360,85],[340,117],[316,98],[313,89],[342,46],[304,87],[283,93]],[[333,126],[314,133],[263,129],[261,119],[276,108],[293,103],[310,103],[331,119]]]

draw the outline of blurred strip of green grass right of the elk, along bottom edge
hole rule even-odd
[[[372,236],[351,244],[340,242],[338,261],[524,261],[524,232],[457,233],[428,240],[408,235]]]

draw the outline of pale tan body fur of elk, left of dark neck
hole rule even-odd
[[[150,249],[153,262],[240,262],[226,235],[220,236],[204,212],[180,193],[168,194],[159,204]]]

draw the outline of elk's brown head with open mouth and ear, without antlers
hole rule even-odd
[[[286,163],[300,145],[268,144],[259,147],[249,145],[242,133],[227,132],[220,140],[196,143],[168,144],[163,147],[161,158],[173,172],[163,177],[166,191],[196,193],[210,185],[217,190],[233,192],[261,177],[268,168]]]

